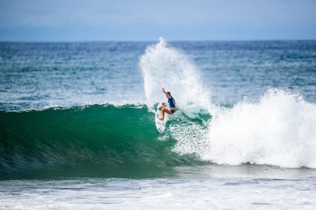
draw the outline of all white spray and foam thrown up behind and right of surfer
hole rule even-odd
[[[219,164],[316,167],[316,105],[299,93],[268,89],[257,101],[244,99],[230,108],[215,105],[190,58],[163,38],[146,49],[140,66],[149,108],[163,100],[157,90],[164,86],[186,116],[201,118],[201,110],[213,116],[204,121],[206,128],[192,122],[170,125],[177,140],[174,151]]]

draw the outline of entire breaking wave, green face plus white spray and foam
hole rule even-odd
[[[139,65],[145,102],[0,111],[0,177],[148,177],[209,163],[316,168],[316,104],[300,94],[270,89],[257,101],[215,104],[193,62],[164,39]],[[162,134],[161,87],[177,101]]]

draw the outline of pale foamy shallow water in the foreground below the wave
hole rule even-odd
[[[6,180],[0,207],[312,209],[316,205],[315,173],[310,169],[209,165],[176,170],[180,177]]]

